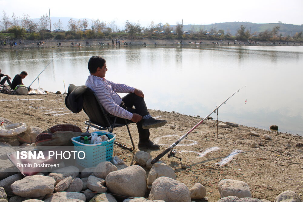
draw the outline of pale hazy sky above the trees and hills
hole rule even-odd
[[[230,0],[230,1],[66,1],[66,0],[0,0],[1,19],[3,10],[11,17],[13,13],[22,16],[28,14],[31,18],[40,18],[42,15],[52,17],[89,18],[111,22],[118,25],[125,21],[141,22],[148,26],[151,21],[176,25],[208,25],[220,22],[252,22],[303,24],[302,0]],[[0,19],[0,20],[1,20]]]

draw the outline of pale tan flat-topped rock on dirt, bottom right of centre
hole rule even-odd
[[[236,196],[238,198],[251,197],[248,184],[240,180],[221,180],[218,184],[221,198]]]

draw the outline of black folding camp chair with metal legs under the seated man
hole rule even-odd
[[[115,127],[122,127],[126,126],[129,137],[132,142],[132,148],[127,147],[121,143],[114,141],[119,147],[128,149],[129,151],[133,151],[135,149],[134,142],[132,140],[131,132],[129,131],[128,122],[124,119],[125,123],[117,124],[116,120],[117,117],[113,116],[112,114],[105,113],[105,109],[99,103],[94,91],[90,90],[85,92],[83,96],[83,110],[88,115],[89,120],[84,121],[86,125],[88,125],[87,130],[89,127],[94,127],[99,130],[108,130],[108,132],[112,133]]]

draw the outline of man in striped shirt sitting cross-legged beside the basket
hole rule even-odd
[[[149,139],[149,128],[164,126],[167,121],[151,117],[141,90],[106,80],[104,78],[107,71],[105,62],[105,59],[100,56],[92,56],[89,59],[88,70],[90,75],[85,85],[95,92],[99,102],[108,113],[122,118],[120,120],[117,119],[117,123],[124,123],[123,119],[137,123],[139,132],[138,147],[158,149],[160,145],[155,144]],[[120,98],[117,93],[128,94]],[[133,106],[135,108],[132,108]]]

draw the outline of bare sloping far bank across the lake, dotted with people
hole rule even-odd
[[[89,42],[89,45],[86,45],[86,41]],[[13,48],[63,48],[63,47],[72,47],[72,42],[77,44],[74,45],[73,47],[79,47],[78,44],[80,43],[80,47],[95,47],[95,46],[107,46],[107,43],[109,43],[109,46],[112,46],[112,39],[100,39],[100,40],[89,40],[87,39],[86,41],[83,40],[41,40],[42,44],[37,45],[39,40],[36,41],[30,41],[30,40],[22,40],[22,44],[19,45],[18,41],[16,47]],[[13,41],[11,41],[13,42]],[[59,42],[61,45],[59,45]],[[144,42],[146,45],[155,45],[156,46],[163,46],[163,45],[178,45],[180,46],[181,40],[178,39],[120,39],[120,45],[125,46],[124,43],[129,43],[131,42],[131,46],[138,46],[138,45],[144,45]],[[196,43],[195,43],[196,42]],[[218,44],[217,44],[218,42]],[[229,45],[228,45],[229,42]],[[202,43],[200,44],[199,41],[195,40],[190,40],[190,39],[182,39],[182,44],[184,46],[301,46],[303,43],[301,42],[277,42],[277,44],[273,44],[272,41],[256,41],[258,44],[249,44],[247,41],[235,41],[237,44],[234,45],[233,40],[202,40]],[[239,42],[241,44],[239,44]],[[99,45],[99,43],[104,43],[104,45]],[[214,44],[215,43],[215,44]],[[244,44],[245,43],[245,44]],[[281,44],[279,44],[281,43]],[[285,44],[282,44],[285,43]],[[10,49],[9,46],[9,41],[6,42],[6,47],[1,47],[3,49]],[[114,46],[116,46],[115,39],[114,39]],[[118,46],[118,44],[117,44]]]

